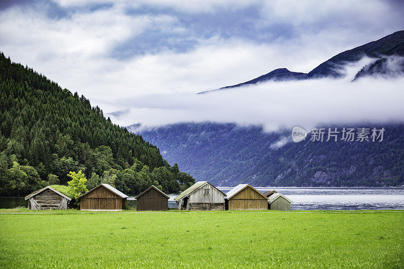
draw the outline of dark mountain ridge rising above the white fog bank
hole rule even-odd
[[[198,92],[198,94],[252,85],[266,81],[304,80],[324,77],[340,78],[343,76],[343,73],[340,71],[344,64],[357,62],[365,56],[373,58],[375,61],[371,63],[368,68],[364,67],[365,69],[359,71],[356,74],[355,79],[376,74],[404,74],[404,61],[396,63],[399,67],[398,70],[389,70],[389,67],[385,64],[388,61],[388,56],[404,57],[404,30],[394,32],[380,38],[379,40],[366,43],[362,46],[343,51],[320,64],[309,73],[291,72],[286,68],[279,68],[246,82],[215,90],[202,91]]]

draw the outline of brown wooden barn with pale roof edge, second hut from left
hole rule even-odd
[[[80,210],[122,210],[127,195],[109,184],[99,184],[79,197]]]

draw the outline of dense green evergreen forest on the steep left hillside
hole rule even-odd
[[[82,171],[90,189],[100,182],[127,193],[151,184],[178,192],[194,179],[171,167],[159,149],[117,126],[83,95],[0,53],[0,196],[66,184]]]

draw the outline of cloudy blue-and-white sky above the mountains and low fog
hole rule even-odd
[[[309,72],[341,51],[404,29],[403,7],[400,1],[2,1],[0,49],[108,113],[139,106],[128,100],[190,96],[276,68]]]

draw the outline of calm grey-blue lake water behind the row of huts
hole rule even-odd
[[[219,187],[224,193],[230,187]],[[276,190],[293,201],[292,210],[360,210],[360,209],[404,209],[404,188],[256,188],[259,191]],[[176,207],[169,194],[169,207]],[[128,205],[135,205],[133,196]],[[24,197],[0,197],[0,208],[27,206]]]

